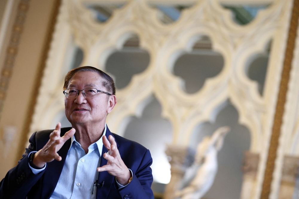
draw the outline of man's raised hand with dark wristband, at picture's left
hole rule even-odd
[[[62,158],[59,156],[57,151],[61,149],[66,140],[70,139],[76,132],[74,128],[69,130],[60,137],[61,124],[56,125],[55,130],[50,134],[50,140],[47,144],[34,154],[33,164],[38,167],[44,167],[47,162],[51,162],[54,159],[60,161]]]

